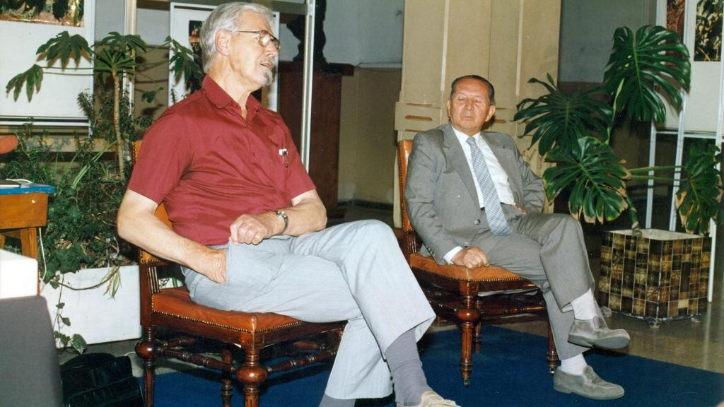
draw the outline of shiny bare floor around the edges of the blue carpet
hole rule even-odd
[[[350,207],[345,213],[345,221],[356,219],[380,219],[392,224],[392,211]],[[586,239],[589,248],[597,241],[596,236]],[[593,256],[596,257],[596,256]],[[722,256],[718,256],[721,259]],[[592,259],[592,269],[597,274],[598,264]],[[720,261],[721,263],[721,261]],[[714,301],[709,304],[707,312],[699,322],[692,319],[663,323],[657,329],[649,327],[647,322],[629,316],[613,314],[608,319],[610,326],[624,328],[631,335],[631,344],[623,352],[659,361],[668,361],[684,366],[719,372],[724,374],[724,293],[722,290],[722,268],[718,267],[715,275]],[[531,332],[536,335],[545,334],[542,322],[526,322],[507,324],[514,330]],[[89,351],[109,352],[117,355],[130,354],[135,361],[135,374],[140,375],[140,363],[133,354],[135,341],[91,345]],[[73,355],[64,353],[62,361]],[[182,367],[181,364],[167,366],[169,369]],[[167,369],[164,367],[159,372]]]

